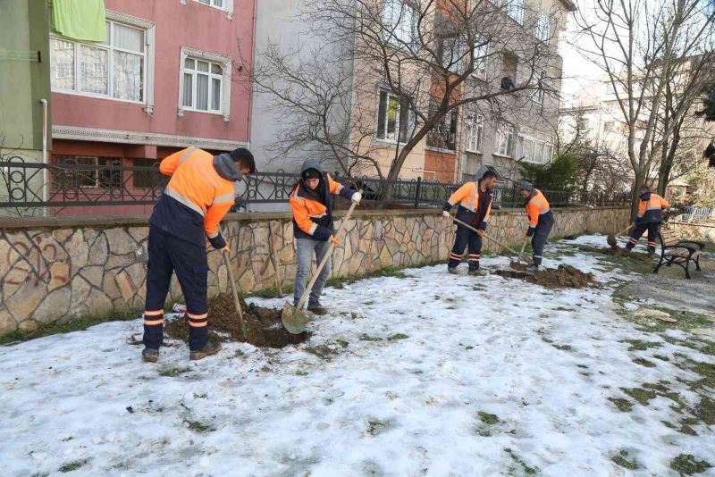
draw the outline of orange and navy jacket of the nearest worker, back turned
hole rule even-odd
[[[172,179],[149,223],[198,247],[206,247],[206,238],[214,248],[225,247],[218,226],[234,204],[241,180],[231,156],[189,147],[166,157],[159,171]]]

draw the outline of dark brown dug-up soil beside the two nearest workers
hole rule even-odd
[[[256,347],[286,347],[297,345],[308,338],[307,332],[290,334],[281,321],[282,310],[248,305],[240,298],[246,334],[240,332],[239,316],[233,299],[226,294],[215,297],[208,304],[209,339],[218,341],[243,341]],[[184,314],[178,320],[164,325],[164,333],[170,338],[189,342],[189,320]]]

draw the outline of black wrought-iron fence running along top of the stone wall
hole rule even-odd
[[[158,163],[128,167],[119,161],[98,163],[97,158],[81,159],[84,163],[29,163],[21,157],[0,162],[0,208],[153,205],[169,180],[158,171]],[[376,207],[439,207],[459,187],[422,179],[388,181],[338,174],[334,179],[349,188],[363,190],[366,203]],[[241,207],[285,203],[298,180],[299,174],[283,171],[251,174],[240,185],[236,204]],[[386,200],[389,192],[391,199]],[[629,200],[629,195],[576,197],[562,190],[544,193],[555,207],[617,205]],[[521,207],[524,203],[516,185],[495,188],[493,197],[494,203],[502,207]]]

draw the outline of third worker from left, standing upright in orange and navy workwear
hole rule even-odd
[[[467,182],[458,188],[444,203],[442,214],[450,216],[451,208],[459,204],[457,218],[461,222],[473,225],[478,233],[457,224],[454,236],[454,246],[450,252],[450,261],[447,263],[447,272],[457,274],[457,266],[462,261],[465,247],[469,247],[469,269],[467,274],[482,274],[479,270],[479,260],[482,257],[482,236],[486,231],[489,216],[492,213],[492,188],[497,183],[497,174],[493,171],[484,172],[478,182]]]

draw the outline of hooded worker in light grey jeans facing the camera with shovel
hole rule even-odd
[[[297,306],[306,289],[307,274],[313,255],[319,264],[328,251],[329,241],[337,245],[332,223],[333,196],[359,203],[362,195],[332,180],[315,159],[307,159],[300,168],[300,180],[290,192],[290,210],[293,212],[293,236],[296,238],[296,282],[293,289],[293,306]],[[307,300],[308,311],[325,314],[320,304],[325,281],[330,275],[331,260],[318,275]]]

